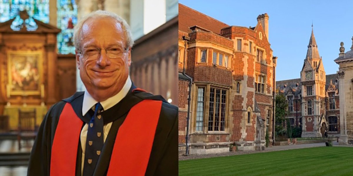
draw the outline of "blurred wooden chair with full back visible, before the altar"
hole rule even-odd
[[[18,150],[21,150],[21,139],[35,139],[36,129],[36,109],[33,111],[21,111],[18,109]]]

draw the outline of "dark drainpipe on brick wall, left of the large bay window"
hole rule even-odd
[[[189,96],[187,98],[187,118],[186,118],[186,136],[185,136],[185,144],[186,144],[186,152],[185,155],[189,155],[189,128],[190,128],[190,100],[191,100],[191,88],[192,88],[192,78],[187,75],[185,72],[185,62],[186,62],[186,54],[187,54],[187,42],[190,41],[189,36],[183,36],[184,40],[184,67],[183,67],[183,75],[189,78]]]

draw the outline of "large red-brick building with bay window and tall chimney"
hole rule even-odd
[[[268,19],[265,13],[255,27],[230,26],[179,4],[180,154],[227,152],[233,143],[264,149],[276,67]]]

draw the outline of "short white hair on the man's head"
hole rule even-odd
[[[115,19],[118,23],[121,24],[122,31],[124,31],[125,39],[126,39],[126,47],[127,48],[132,47],[134,42],[132,39],[130,26],[126,23],[125,19],[121,18],[119,15],[117,15],[113,12],[99,10],[99,11],[91,12],[88,15],[86,15],[85,17],[83,17],[82,19],[80,19],[78,21],[77,25],[74,27],[73,37],[74,37],[75,48],[77,50],[79,50],[81,47],[80,42],[81,42],[82,37],[81,37],[80,33],[82,30],[82,26],[85,23],[85,21],[90,18],[112,18],[112,19]]]

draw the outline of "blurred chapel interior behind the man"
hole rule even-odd
[[[48,108],[84,91],[73,27],[96,10],[130,25],[134,84],[178,104],[178,0],[0,0],[1,176],[26,175]]]

